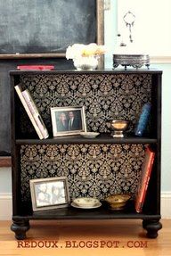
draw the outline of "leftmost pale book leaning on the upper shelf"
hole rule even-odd
[[[40,139],[43,139],[44,136],[42,135],[40,129],[37,127],[37,122],[35,121],[35,119],[34,119],[32,113],[31,113],[31,111],[29,111],[28,104],[26,103],[26,101],[25,101],[25,99],[24,99],[24,97],[23,97],[23,95],[22,95],[22,93],[21,93],[21,92],[22,92],[21,87],[18,85],[18,86],[15,86],[14,88],[15,88],[17,94],[18,94],[19,97],[20,97],[20,102],[22,103],[22,105],[23,105],[25,111],[26,111],[27,114],[28,114],[29,120],[31,121],[33,127],[35,128],[35,130],[36,130],[36,132],[37,132],[37,136],[38,136]]]

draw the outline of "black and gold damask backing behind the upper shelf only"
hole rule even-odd
[[[50,131],[51,107],[82,105],[89,131],[109,132],[106,120],[112,119],[130,120],[128,131],[133,131],[142,105],[151,102],[151,74],[27,74],[20,82],[30,90]]]

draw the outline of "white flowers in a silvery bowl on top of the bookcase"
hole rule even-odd
[[[74,44],[69,45],[66,51],[67,60],[72,59],[77,70],[95,70],[98,66],[98,58],[105,53],[104,45]]]

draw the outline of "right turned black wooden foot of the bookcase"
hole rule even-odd
[[[143,219],[142,227],[147,230],[147,237],[156,238],[162,224],[159,222],[159,219]]]

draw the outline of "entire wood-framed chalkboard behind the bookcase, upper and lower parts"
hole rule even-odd
[[[11,153],[9,70],[74,69],[66,47],[92,42],[103,43],[103,0],[0,0],[0,156]]]

